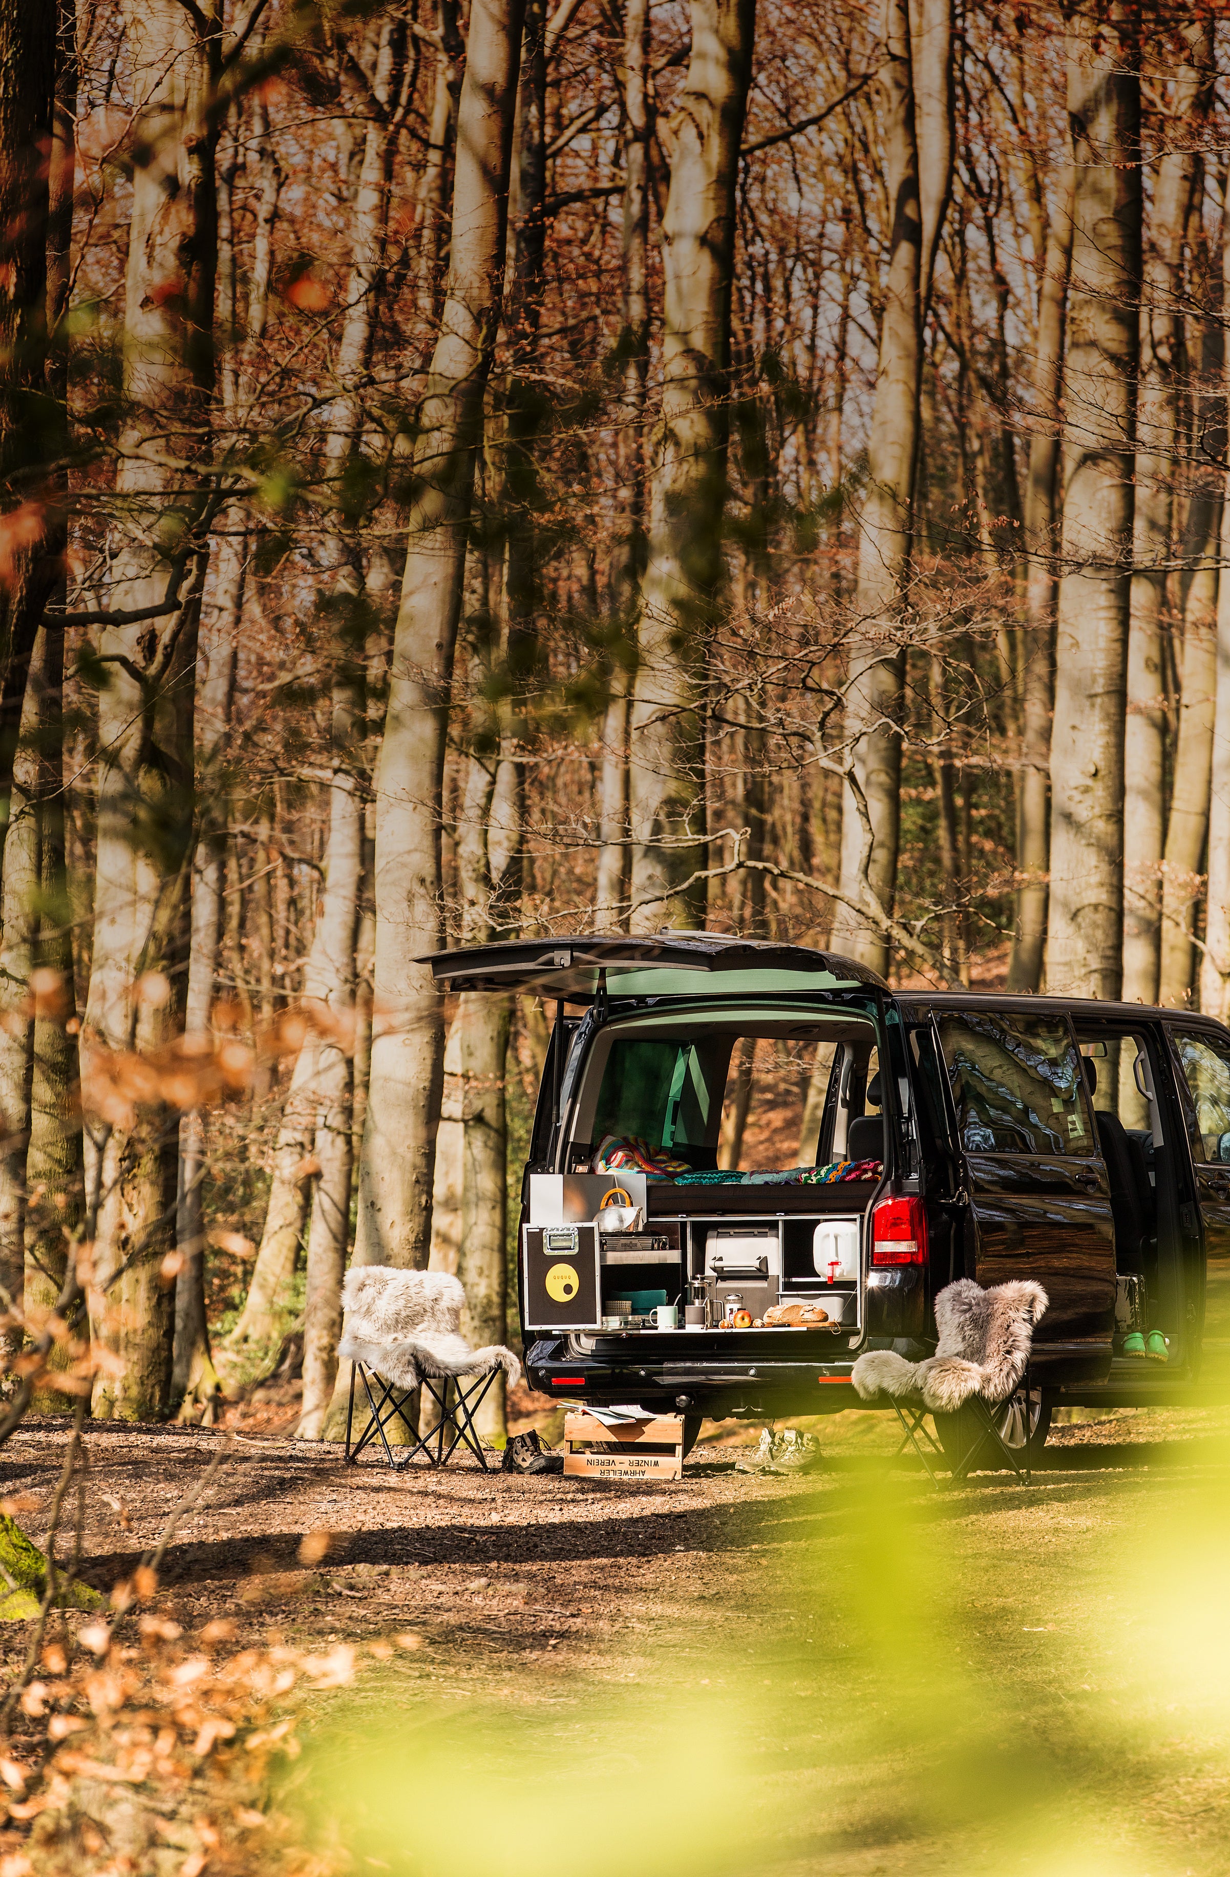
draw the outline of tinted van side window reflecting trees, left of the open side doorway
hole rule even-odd
[[[1067,1023],[976,1010],[943,1015],[939,1038],[971,1152],[1097,1152]]]

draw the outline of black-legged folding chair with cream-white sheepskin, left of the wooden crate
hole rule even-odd
[[[466,1291],[447,1271],[359,1265],[347,1273],[338,1357],[353,1365],[346,1410],[346,1458],[351,1464],[379,1440],[387,1464],[398,1472],[417,1455],[430,1466],[447,1466],[462,1443],[483,1472],[490,1470],[475,1413],[496,1376],[505,1374],[509,1383],[518,1380],[520,1363],[503,1344],[469,1348],[460,1333],[464,1303]],[[368,1408],[359,1438],[357,1381]],[[426,1430],[413,1415],[415,1404],[423,1413],[423,1396],[434,1402],[439,1415]],[[362,1402],[359,1419],[364,1419]],[[389,1440],[394,1427],[396,1455]]]

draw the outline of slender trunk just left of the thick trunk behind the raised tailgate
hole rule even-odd
[[[623,541],[614,556],[610,606],[618,638],[610,655],[610,696],[603,715],[595,920],[599,931],[625,923],[627,895],[627,704],[629,659],[623,634],[637,619],[644,574],[644,404],[650,372],[650,105],[646,94],[648,0],[623,13],[623,400],[620,405],[620,484]],[[631,651],[631,648],[629,648]]]

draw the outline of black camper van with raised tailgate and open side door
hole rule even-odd
[[[441,952],[554,1004],[518,1224],[531,1387],[691,1417],[854,1406],[956,1276],[1044,1284],[1031,1396],[1230,1396],[1230,1030],[892,991],[806,946],[661,933]]]

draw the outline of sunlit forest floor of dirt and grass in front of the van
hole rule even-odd
[[[807,1425],[813,1473],[740,1473],[727,1442],[755,1430],[717,1428],[680,1483],[637,1487],[394,1477],[242,1427],[86,1427],[83,1575],[131,1575],[229,1442],[156,1603],[188,1635],[231,1618],[240,1642],[355,1644],[357,1684],[308,1704],[295,1779],[310,1836],[321,1793],[344,1813],[370,1749],[398,1742],[357,1868],[415,1868],[396,1806],[464,1763],[462,1813],[496,1806],[515,1834],[522,1802],[541,1836],[560,1802],[573,1821],[561,1856],[507,1854],[511,1871],[992,1871],[1005,1832],[1008,1862],[1048,1877],[1230,1871],[1230,1410],[1057,1427],[1033,1487],[945,1492],[892,1460],[888,1415]],[[34,1537],[64,1438],[30,1421],[0,1455]],[[26,1633],[4,1637],[9,1669]],[[438,1764],[428,1742],[458,1727],[466,1751]],[[569,1766],[565,1802],[550,1781]],[[614,1862],[595,1832],[612,1778],[644,1830],[657,1819]],[[687,1794],[710,1824],[729,1813],[719,1841],[672,1839]],[[468,1830],[443,1845],[456,1877],[494,1868]]]

